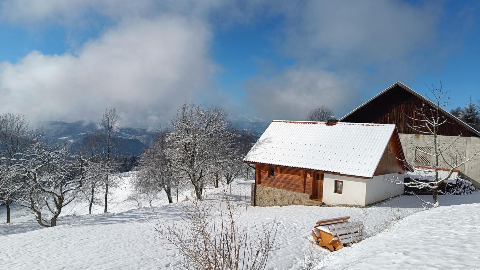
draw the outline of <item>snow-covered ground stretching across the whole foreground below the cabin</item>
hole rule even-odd
[[[190,202],[168,205],[163,197],[154,207],[138,209],[125,201],[131,192],[128,176],[124,174],[122,188],[115,190],[107,214],[100,206],[86,215],[87,204],[76,201],[62,212],[57,227],[43,228],[14,210],[13,223],[0,224],[0,269],[173,269],[178,254],[154,238],[147,220],[158,215],[160,220],[181,222],[181,205]],[[479,193],[440,196],[442,207],[426,211],[415,196],[399,196],[368,208],[250,207],[251,183],[236,181],[230,192],[242,209],[238,222],[243,227],[275,222],[278,228],[276,239],[282,248],[270,254],[268,269],[301,269],[306,261],[314,261],[318,269],[480,267]],[[219,192],[208,190],[206,199],[218,204]],[[422,198],[431,200],[431,196]],[[347,215],[365,222],[369,238],[333,253],[320,247],[310,252],[315,221]],[[4,220],[3,207],[0,221]]]

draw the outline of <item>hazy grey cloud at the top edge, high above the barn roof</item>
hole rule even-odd
[[[401,1],[308,1],[288,12],[292,55],[378,63],[433,45],[441,5]]]

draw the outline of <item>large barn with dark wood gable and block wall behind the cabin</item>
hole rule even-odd
[[[414,123],[412,118],[419,118],[415,115],[415,108],[421,106],[436,105],[410,87],[396,82],[349,112],[340,119],[340,122],[395,124],[408,162],[422,166],[432,164],[432,157],[425,154],[432,152],[425,143],[429,139],[428,136],[432,135],[422,135],[408,127],[418,124]],[[442,108],[440,113],[447,123],[438,130],[439,141],[450,143],[455,140],[454,146],[462,156],[480,153],[480,132]],[[412,144],[415,147],[411,147]],[[480,157],[475,157],[458,169],[463,178],[480,187]]]

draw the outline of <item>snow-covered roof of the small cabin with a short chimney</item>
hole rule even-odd
[[[394,124],[274,120],[245,162],[372,178]]]

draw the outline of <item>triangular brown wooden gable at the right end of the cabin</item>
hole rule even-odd
[[[384,154],[378,163],[378,167],[374,175],[384,175],[396,172],[405,173],[405,168],[402,166],[402,161],[398,160],[401,159],[401,153],[395,133],[390,137],[390,142],[392,142],[392,152],[388,153],[388,146],[385,147]]]

